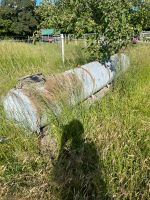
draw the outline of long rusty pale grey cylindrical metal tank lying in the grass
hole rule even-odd
[[[106,87],[129,66],[126,55],[114,55],[105,63],[92,62],[53,76],[23,77],[3,100],[7,117],[31,131],[47,124],[47,112],[59,115],[62,106],[75,105]]]

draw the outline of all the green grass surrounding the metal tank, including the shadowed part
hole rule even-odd
[[[150,199],[150,46],[128,50],[131,68],[115,80],[101,102],[66,108],[53,116],[39,145],[5,118],[0,106],[2,199]],[[81,47],[0,43],[0,96],[21,76],[51,74],[85,63]],[[51,141],[50,146],[47,141]],[[57,142],[56,142],[57,141]]]

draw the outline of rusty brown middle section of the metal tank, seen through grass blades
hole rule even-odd
[[[48,76],[39,82],[28,81],[25,77],[20,83],[24,95],[29,97],[39,117],[47,107],[55,108],[63,102],[69,105],[83,91],[82,82],[73,73]],[[39,87],[43,90],[38,90]]]

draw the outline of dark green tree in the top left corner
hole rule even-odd
[[[1,35],[32,35],[37,27],[32,0],[3,0],[0,7]]]

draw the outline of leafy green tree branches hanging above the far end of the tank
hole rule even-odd
[[[145,4],[141,0],[58,0],[44,1],[37,9],[43,27],[55,27],[89,38],[88,52],[93,59],[109,58],[142,30]]]

